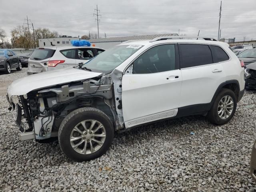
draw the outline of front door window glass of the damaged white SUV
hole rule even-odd
[[[175,45],[155,46],[133,62],[133,74],[150,74],[175,70]]]

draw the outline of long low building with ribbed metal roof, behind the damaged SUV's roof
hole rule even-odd
[[[178,36],[177,33],[170,34],[159,34],[159,35],[142,35],[142,36],[127,36],[127,37],[110,37],[110,38],[98,38],[98,39],[89,39],[92,45],[100,47],[103,49],[108,49],[113,46],[116,46],[124,41],[130,40],[144,40],[144,39],[153,39],[161,36]]]

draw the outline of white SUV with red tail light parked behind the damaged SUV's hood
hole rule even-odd
[[[87,46],[36,48],[28,59],[28,75],[84,64],[104,51]]]

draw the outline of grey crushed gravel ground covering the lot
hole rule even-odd
[[[0,82],[21,76],[26,68],[0,75]],[[1,93],[0,191],[255,191],[249,174],[255,106],[256,92],[245,92],[226,125],[192,116],[142,126],[117,134],[104,156],[77,163],[58,142],[20,142]]]

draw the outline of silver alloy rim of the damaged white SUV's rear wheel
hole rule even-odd
[[[218,104],[218,116],[221,119],[227,119],[234,110],[234,100],[231,96],[226,95],[221,98]]]

